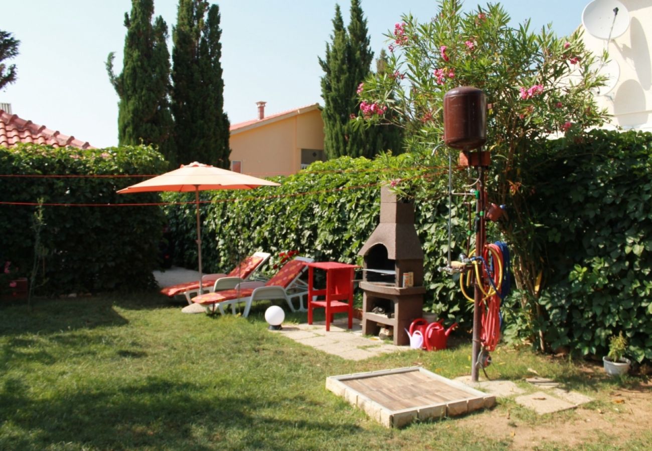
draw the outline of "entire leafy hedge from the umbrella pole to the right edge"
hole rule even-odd
[[[543,315],[535,327],[550,349],[566,345],[581,355],[602,355],[608,337],[623,330],[630,355],[652,358],[651,141],[646,133],[594,131],[578,141],[549,141],[522,162],[531,168],[524,187],[538,211],[538,239],[548,261],[539,300]],[[357,252],[378,224],[379,185],[409,178],[421,179],[415,186],[428,185],[411,193],[425,254],[425,308],[470,327],[471,304],[456,278],[437,271],[447,259],[445,171],[419,168],[411,154],[316,162],[276,179],[279,187],[202,193],[205,272],[228,270],[256,250],[299,250],[318,260],[360,263]],[[192,201],[181,194],[165,198]],[[165,209],[177,264],[196,267],[192,203]],[[467,205],[454,205],[452,226],[457,255],[466,246]],[[489,237],[500,239],[492,224]],[[512,337],[519,335],[514,329],[531,327],[519,310],[519,295],[504,302],[504,326]]]

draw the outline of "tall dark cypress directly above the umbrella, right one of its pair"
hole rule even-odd
[[[172,113],[182,162],[229,167],[224,113],[220,11],[205,0],[179,0],[172,39]]]

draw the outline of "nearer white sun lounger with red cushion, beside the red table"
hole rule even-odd
[[[311,258],[295,257],[267,282],[242,282],[233,289],[194,297],[192,302],[201,304],[207,313],[215,313],[216,310],[219,310],[222,314],[224,314],[224,307],[229,305],[231,312],[235,313],[235,305],[244,302],[243,316],[247,317],[255,300],[285,299],[291,312],[295,312],[291,298],[301,299],[308,293],[308,285],[299,278],[306,270],[305,263],[312,261]]]

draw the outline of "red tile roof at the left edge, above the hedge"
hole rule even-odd
[[[14,147],[18,143],[35,143],[51,145],[52,147],[78,147],[79,149],[95,149],[86,141],[66,136],[58,131],[50,130],[44,125],[20,119],[18,115],[5,113],[0,109],[0,147]]]

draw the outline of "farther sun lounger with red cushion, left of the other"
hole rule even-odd
[[[254,274],[254,272],[256,272],[256,270],[261,267],[267,259],[269,259],[269,255],[270,254],[267,254],[267,252],[256,252],[254,255],[246,257],[228,274],[205,274],[201,278],[201,288],[209,292],[213,292],[216,289],[233,288],[240,282],[250,278],[250,276],[252,276],[252,274]],[[188,304],[192,304],[190,295],[192,293],[199,293],[199,287],[199,281],[193,280],[191,282],[165,287],[161,290],[161,293],[170,297],[184,295]]]

